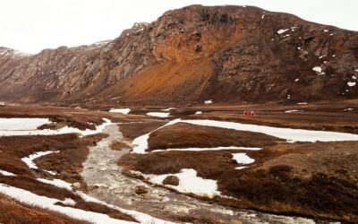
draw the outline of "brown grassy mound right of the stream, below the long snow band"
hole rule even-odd
[[[358,142],[317,142],[241,151],[255,163],[240,170],[231,154],[238,151],[128,154],[118,164],[157,175],[193,168],[199,177],[217,180],[222,194],[238,199],[217,201],[238,208],[357,222],[356,147]]]

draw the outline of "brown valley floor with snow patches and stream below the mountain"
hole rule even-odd
[[[7,105],[0,221],[355,222],[356,105]]]

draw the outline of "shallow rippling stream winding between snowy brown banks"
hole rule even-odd
[[[120,124],[119,124],[120,125]],[[82,164],[81,176],[88,186],[95,186],[90,196],[114,204],[124,209],[142,211],[164,220],[174,220],[175,216],[190,216],[197,219],[211,218],[226,223],[314,223],[313,220],[299,217],[286,217],[258,211],[234,209],[178,194],[166,188],[148,185],[141,180],[122,175],[117,161],[130,150],[113,151],[112,141],[121,142],[123,135],[118,125],[107,125],[103,133],[109,136],[90,147],[88,159]],[[126,142],[128,143],[128,142]],[[138,185],[145,185],[148,194],[134,193]]]

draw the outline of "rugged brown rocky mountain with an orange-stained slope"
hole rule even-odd
[[[249,6],[192,5],[35,56],[0,48],[0,99],[27,102],[345,99],[358,97],[356,78],[358,32]]]

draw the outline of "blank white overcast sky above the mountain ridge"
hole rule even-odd
[[[134,22],[190,4],[256,5],[358,30],[358,0],[0,0],[0,46],[38,53],[115,39]]]

